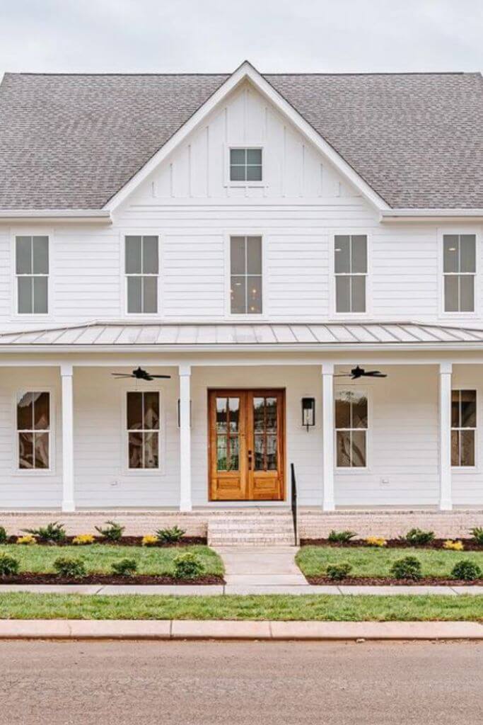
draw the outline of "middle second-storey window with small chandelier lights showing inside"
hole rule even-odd
[[[230,238],[232,315],[261,315],[261,236]]]

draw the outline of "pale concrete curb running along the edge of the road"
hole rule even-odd
[[[233,620],[1,620],[0,641],[55,640],[268,640],[334,642],[357,640],[483,641],[478,622],[308,622]]]

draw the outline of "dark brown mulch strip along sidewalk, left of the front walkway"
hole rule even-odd
[[[175,576],[156,574],[135,574],[119,576],[119,574],[96,574],[88,576],[59,576],[54,573],[24,571],[15,576],[1,576],[0,584],[224,584],[219,574],[206,574],[197,579],[176,579]]]

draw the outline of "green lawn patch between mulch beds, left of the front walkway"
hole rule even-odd
[[[53,572],[54,560],[59,556],[82,558],[89,573],[111,573],[111,564],[119,559],[135,559],[139,574],[172,574],[173,559],[180,553],[192,551],[202,560],[206,574],[223,575],[223,563],[216,552],[207,546],[187,547],[126,547],[109,544],[88,544],[87,546],[22,546],[4,544],[0,552],[5,552],[20,561],[20,571]]]

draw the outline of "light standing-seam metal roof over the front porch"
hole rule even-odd
[[[0,350],[152,350],[483,347],[483,329],[416,322],[133,323],[91,322],[0,334]]]

